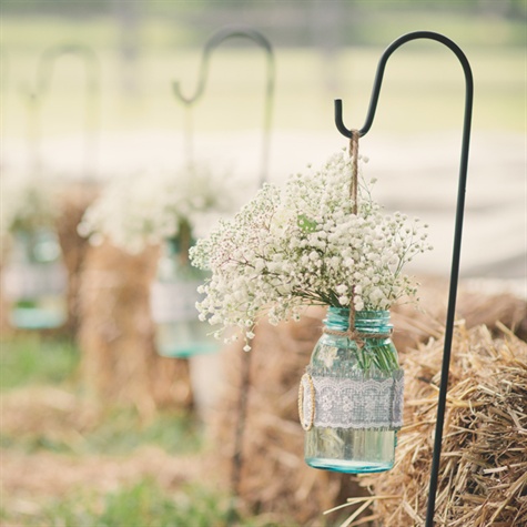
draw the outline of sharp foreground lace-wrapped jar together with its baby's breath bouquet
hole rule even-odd
[[[403,267],[432,249],[427,225],[374,201],[366,161],[341,151],[282,188],[264,185],[191,250],[212,273],[200,316],[220,325],[217,337],[237,328],[226,339],[241,334],[245,351],[261,316],[277,324],[298,320],[306,304],[328,307],[298,408],[307,464],[347,473],[393,465],[403,372],[389,307],[416,296]]]

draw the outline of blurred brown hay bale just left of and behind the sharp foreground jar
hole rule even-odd
[[[251,354],[247,418],[240,498],[253,513],[278,521],[321,525],[322,511],[345,496],[364,495],[348,475],[315,470],[304,463],[298,422],[298,382],[322,334],[325,311],[311,308],[300,323],[262,322]],[[229,475],[240,397],[242,345],[225,348],[226,386],[213,424],[219,470]],[[291,525],[291,524],[287,524]]]

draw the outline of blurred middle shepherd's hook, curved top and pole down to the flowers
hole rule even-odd
[[[209,74],[209,64],[211,54],[215,48],[217,48],[224,40],[241,37],[246,38],[262,47],[267,58],[267,79],[265,84],[265,108],[264,108],[264,124],[263,124],[263,146],[262,146],[262,161],[261,161],[261,176],[260,185],[266,180],[267,175],[267,162],[270,151],[270,132],[271,132],[271,114],[274,94],[274,54],[273,48],[270,41],[259,31],[246,28],[243,26],[226,27],[216,31],[205,43],[203,49],[203,55],[200,67],[200,73],[197,78],[197,84],[194,94],[185,97],[181,92],[180,82],[174,81],[172,88],[174,95],[188,108],[192,107],[199,99],[202,98],[205,91],[205,84]]]

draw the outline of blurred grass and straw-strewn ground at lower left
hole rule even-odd
[[[82,393],[78,367],[68,341],[22,334],[1,343],[0,525],[233,525],[195,419],[161,412],[145,423],[133,408],[101,408]]]

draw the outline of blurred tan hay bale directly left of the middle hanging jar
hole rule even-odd
[[[165,405],[192,404],[185,361],[158,355],[150,284],[158,250],[130,255],[90,247],[80,290],[83,377],[103,401],[133,404],[144,416]]]

